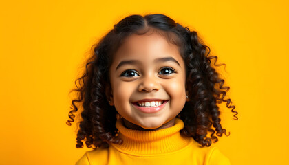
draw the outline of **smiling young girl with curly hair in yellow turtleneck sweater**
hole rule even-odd
[[[78,98],[67,124],[81,103],[76,148],[83,141],[94,148],[76,164],[230,164],[208,147],[218,140],[215,132],[226,135],[217,104],[226,102],[237,120],[209,52],[197,32],[163,14],[114,25],[94,45],[73,90]]]

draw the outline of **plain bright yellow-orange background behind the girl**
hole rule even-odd
[[[129,14],[167,14],[196,30],[239,112],[221,109],[229,137],[215,144],[232,164],[289,164],[288,1],[2,1],[0,164],[74,164],[67,126],[90,46]]]

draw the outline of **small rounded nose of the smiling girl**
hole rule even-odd
[[[158,91],[160,89],[159,83],[153,76],[145,76],[142,78],[140,85],[138,86],[138,91]]]

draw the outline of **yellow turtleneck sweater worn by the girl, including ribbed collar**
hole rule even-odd
[[[87,151],[76,165],[88,164],[230,164],[218,148],[204,147],[191,137],[184,137],[180,130],[184,122],[175,118],[175,125],[157,131],[127,129],[122,119],[116,128],[123,144],[110,144],[109,148]]]

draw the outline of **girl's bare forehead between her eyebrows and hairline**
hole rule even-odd
[[[114,63],[125,59],[150,60],[169,56],[182,61],[178,46],[168,41],[165,36],[156,32],[132,34],[114,54]]]

